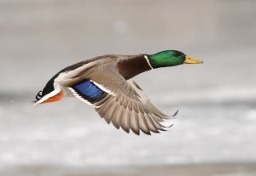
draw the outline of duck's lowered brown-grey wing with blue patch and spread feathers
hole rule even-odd
[[[78,99],[93,105],[115,128],[122,128],[127,133],[131,129],[138,135],[140,130],[146,134],[165,131],[161,122],[168,116],[151,104],[136,82],[126,81],[116,71],[96,71],[69,89]]]

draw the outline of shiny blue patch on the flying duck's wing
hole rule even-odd
[[[93,101],[102,97],[105,93],[101,88],[98,88],[93,82],[90,80],[85,80],[84,82],[80,82],[79,84],[73,86],[74,90],[81,95],[84,99],[89,101]]]

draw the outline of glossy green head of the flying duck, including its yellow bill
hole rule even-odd
[[[189,58],[186,54],[176,50],[161,51],[157,54],[148,54],[149,64],[153,68],[175,66],[182,64],[199,64],[201,60]]]

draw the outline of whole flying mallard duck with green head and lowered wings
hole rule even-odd
[[[168,118],[152,105],[131,78],[159,67],[197,64],[176,50],[157,54],[103,55],[84,60],[59,71],[36,96],[36,104],[61,100],[70,94],[92,105],[115,128],[138,134],[165,131],[161,122]],[[174,114],[174,116],[177,112]]]

